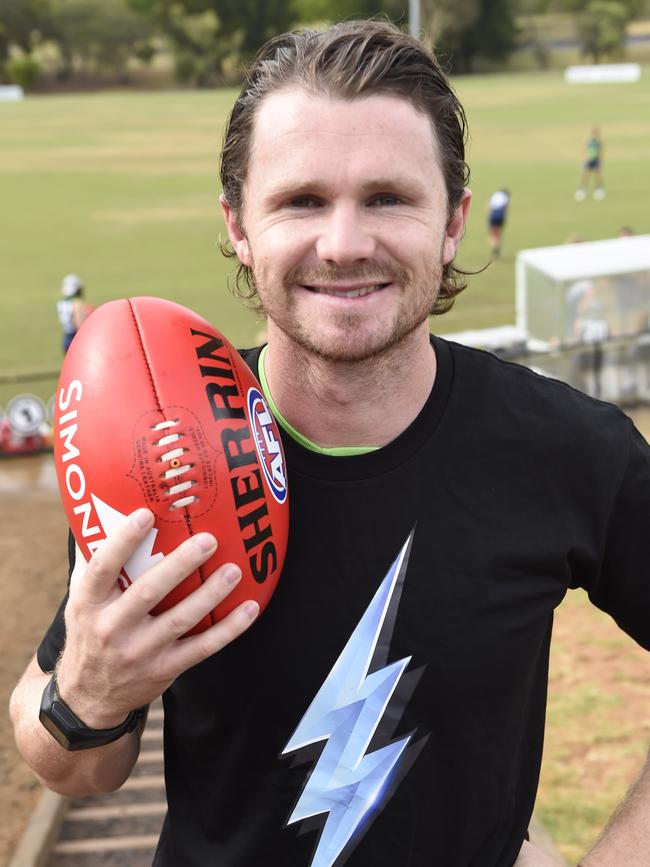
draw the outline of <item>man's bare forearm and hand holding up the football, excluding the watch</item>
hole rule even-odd
[[[183,671],[241,635],[259,611],[255,602],[244,602],[200,635],[182,638],[236,586],[241,572],[230,563],[168,611],[149,614],[212,556],[217,543],[208,533],[183,542],[121,593],[116,584],[120,570],[152,525],[151,512],[134,512],[70,585],[66,644],[57,664],[59,694],[93,729],[118,726],[132,710],[150,704]],[[46,786],[64,795],[119,787],[137,759],[139,732],[103,747],[64,750],[38,718],[49,677],[33,659],[11,697],[16,743],[24,759]]]

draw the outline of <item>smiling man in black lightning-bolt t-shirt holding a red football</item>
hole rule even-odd
[[[630,422],[429,336],[461,285],[466,179],[462,108],[416,40],[350,22],[262,49],[222,205],[268,318],[245,357],[284,431],[280,584],[249,631],[254,605],[178,641],[238,572],[150,618],[216,542],[120,596],[151,527],[138,510],[77,563],[65,628],[59,614],[12,702],[32,767],[78,794],[126,778],[136,709],[164,691],[158,867],[548,865],[525,838],[553,609],[581,583],[650,645],[650,460]],[[38,721],[55,666],[86,726],[133,730],[61,749]],[[647,862],[649,777],[585,867]]]

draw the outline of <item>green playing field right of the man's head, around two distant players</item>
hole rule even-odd
[[[512,193],[504,257],[475,277],[441,330],[514,321],[514,259],[518,250],[613,237],[623,225],[650,232],[645,204],[650,170],[648,70],[633,85],[567,85],[559,73],[464,78],[457,89],[471,140],[474,192],[459,261],[485,264],[485,207],[490,193]],[[605,142],[603,202],[573,200],[584,141],[594,124]]]

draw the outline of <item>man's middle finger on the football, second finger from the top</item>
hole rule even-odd
[[[202,566],[214,554],[216,547],[217,540],[212,534],[197,533],[143,572],[117,602],[123,624],[140,623],[170,590]]]

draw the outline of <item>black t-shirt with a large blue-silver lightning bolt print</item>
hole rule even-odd
[[[156,867],[512,867],[554,608],[582,586],[650,647],[645,441],[569,386],[434,345],[430,398],[389,445],[284,438],[275,595],[164,696]],[[59,614],[44,670],[62,639]]]

